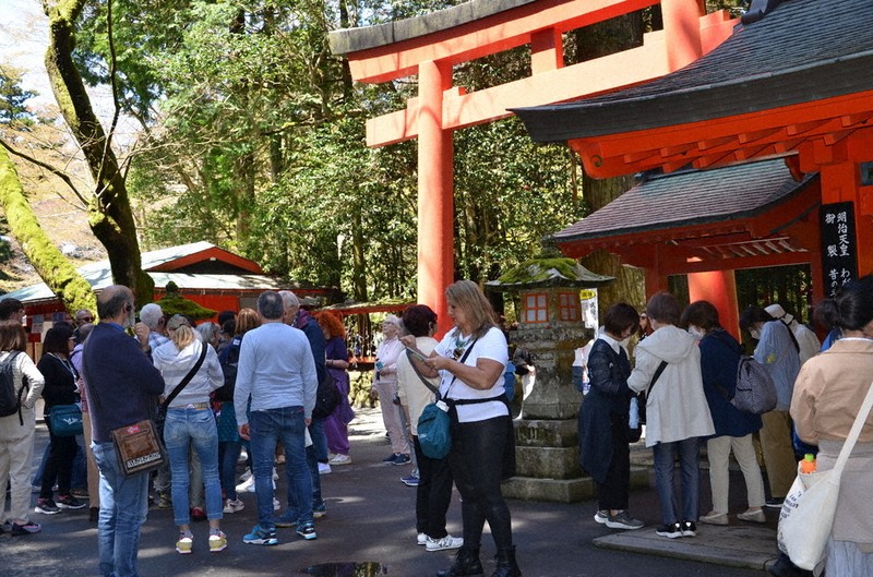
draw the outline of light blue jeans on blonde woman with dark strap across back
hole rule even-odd
[[[164,426],[164,443],[170,458],[172,478],[172,515],[176,525],[190,525],[191,512],[188,497],[191,473],[188,455],[193,445],[200,457],[203,485],[206,492],[206,518],[220,519],[222,483],[218,480],[218,429],[210,408],[194,409],[170,407]]]

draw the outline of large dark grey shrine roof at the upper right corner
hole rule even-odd
[[[538,142],[634,132],[873,89],[865,0],[786,0],[695,62],[658,80],[574,103],[513,111]]]

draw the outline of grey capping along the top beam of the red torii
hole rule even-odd
[[[428,34],[461,26],[536,1],[473,0],[421,16],[360,28],[334,31],[328,35],[328,41],[333,53],[346,55],[427,36]]]

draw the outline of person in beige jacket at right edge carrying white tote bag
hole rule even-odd
[[[818,485],[823,483],[836,485],[837,489],[832,488],[832,491],[838,497],[830,506],[830,513],[824,506],[818,507],[801,534],[809,534],[813,528],[825,531],[824,568],[827,575],[870,575],[873,567],[873,500],[870,498],[873,486],[873,418],[870,414],[873,405],[873,393],[870,392],[873,375],[873,275],[844,285],[835,298],[822,301],[816,308],[816,318],[839,326],[844,336],[801,368],[794,383],[791,417],[798,436],[818,445],[816,477],[829,472],[832,478],[818,481],[808,490],[802,501],[812,496],[813,491],[822,491],[824,486]],[[800,510],[788,515],[786,507],[780,517],[794,517]],[[827,524],[829,515],[833,515],[832,525]],[[792,537],[791,522],[780,522],[780,541],[788,549],[791,561],[801,567],[821,566],[821,555],[799,552],[793,546],[798,537]]]

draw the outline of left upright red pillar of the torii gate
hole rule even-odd
[[[452,68],[418,67],[418,302],[439,316],[439,334],[451,326],[445,288],[454,281],[454,182],[452,132],[443,130],[443,92]]]

